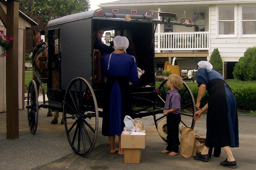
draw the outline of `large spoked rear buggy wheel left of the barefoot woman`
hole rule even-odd
[[[63,115],[72,150],[79,156],[88,155],[97,138],[99,112],[93,89],[84,78],[74,78],[68,85]]]

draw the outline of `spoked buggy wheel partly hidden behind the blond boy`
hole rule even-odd
[[[167,91],[169,90],[166,86],[166,81],[167,79],[164,82],[162,82],[162,84],[160,84],[159,86],[160,92],[156,99],[155,110],[163,109],[165,106],[165,99],[166,99]],[[190,88],[187,86],[187,84],[185,84],[185,82],[183,82],[183,87],[178,92],[179,92],[179,95],[181,96],[181,111],[180,111],[181,124],[184,125],[185,127],[191,127],[192,129],[194,129],[195,121],[193,119],[193,116],[196,112],[196,105],[195,105],[193,94]],[[163,124],[163,122],[165,122],[164,119],[166,119],[166,116],[163,115],[161,112],[160,114],[154,114],[153,117],[154,117],[154,123],[156,125],[156,129],[160,137],[164,141],[166,141],[166,138],[164,137],[165,135],[163,135],[163,133],[166,133],[165,124]]]

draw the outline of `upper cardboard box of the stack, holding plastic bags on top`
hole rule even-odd
[[[121,148],[144,149],[146,145],[146,133],[144,134],[121,134]]]

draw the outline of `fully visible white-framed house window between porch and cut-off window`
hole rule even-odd
[[[230,6],[218,7],[218,35],[220,37],[234,37],[235,8]]]

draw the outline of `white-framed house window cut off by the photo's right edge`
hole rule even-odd
[[[256,6],[242,7],[242,34],[256,35]]]

